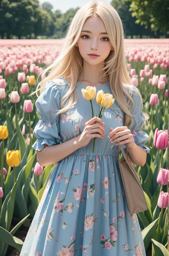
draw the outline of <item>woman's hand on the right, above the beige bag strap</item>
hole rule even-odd
[[[108,138],[113,142],[118,142],[117,145],[124,144],[127,148],[132,148],[135,145],[134,136],[127,126],[110,128],[111,132]]]

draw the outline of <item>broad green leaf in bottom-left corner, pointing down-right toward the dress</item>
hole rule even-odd
[[[24,242],[19,238],[12,236],[6,229],[0,227],[0,240],[7,243],[8,245],[17,248],[21,251]],[[0,248],[1,250],[1,248]],[[1,255],[1,254],[0,254]]]

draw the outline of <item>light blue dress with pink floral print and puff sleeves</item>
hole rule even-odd
[[[34,129],[37,141],[32,146],[41,151],[49,146],[64,143],[78,136],[84,124],[92,118],[91,104],[84,100],[81,89],[86,85],[77,82],[80,101],[72,110],[56,116],[60,99],[69,89],[65,77],[62,85],[49,81],[36,100],[40,120]],[[111,93],[110,84],[96,86],[96,92]],[[137,88],[135,89],[138,90]],[[134,99],[134,141],[146,152],[149,136],[141,130],[145,117],[139,96]],[[77,92],[75,91],[75,100]],[[100,106],[92,101],[94,116]],[[113,108],[118,108],[114,101]],[[130,108],[132,103],[130,103]],[[93,139],[71,155],[59,161],[36,210],[27,233],[21,256],[145,256],[145,248],[137,214],[130,216],[118,165],[118,145],[108,139],[110,127],[123,126],[121,109],[105,109],[102,120],[106,134]],[[125,150],[125,146],[123,145]]]

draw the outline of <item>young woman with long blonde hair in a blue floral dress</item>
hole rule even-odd
[[[118,165],[119,144],[136,165],[143,166],[149,152],[149,136],[141,130],[142,97],[130,85],[121,19],[111,5],[88,2],[72,19],[64,41],[39,84],[40,120],[32,146],[41,166],[57,164],[20,255],[145,256]],[[93,118],[83,98],[87,86],[113,94],[115,101],[101,119],[96,98]]]

